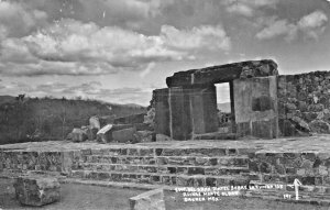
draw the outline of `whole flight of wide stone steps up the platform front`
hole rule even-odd
[[[102,150],[81,154],[69,176],[170,186],[237,186],[249,184],[248,164],[248,155],[235,148]]]

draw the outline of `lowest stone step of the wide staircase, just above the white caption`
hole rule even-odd
[[[72,178],[143,183],[153,185],[172,185],[189,187],[246,186],[250,181],[243,176],[211,176],[211,175],[167,175],[162,173],[119,173],[96,170],[73,170]]]

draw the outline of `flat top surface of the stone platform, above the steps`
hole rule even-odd
[[[244,139],[238,141],[167,141],[139,144],[99,144],[95,142],[73,143],[68,141],[28,142],[0,145],[0,151],[11,152],[69,152],[79,150],[110,148],[251,148],[256,153],[329,153],[330,135],[320,134],[306,137],[287,137],[277,140]]]

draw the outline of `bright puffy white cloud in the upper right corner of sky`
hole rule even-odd
[[[270,18],[263,20],[265,27],[256,34],[260,40],[270,40],[277,36],[284,36],[287,42],[295,40],[300,32],[304,37],[317,40],[326,29],[328,16],[321,11],[315,11],[300,18],[296,23],[288,20],[277,20]]]

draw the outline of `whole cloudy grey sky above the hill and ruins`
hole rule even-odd
[[[329,19],[327,0],[0,0],[0,95],[147,104],[190,68],[330,70]]]

